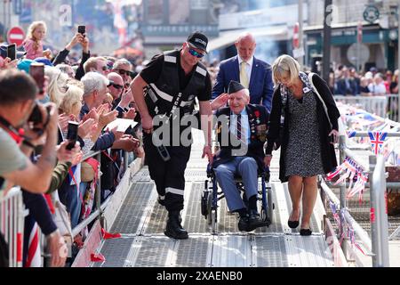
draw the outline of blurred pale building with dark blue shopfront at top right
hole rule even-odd
[[[323,56],[324,0],[308,0],[307,3],[313,8],[308,10],[304,45],[308,51],[306,61],[314,62]],[[345,64],[357,68],[358,62],[361,71],[371,67],[396,69],[397,3],[396,0],[333,0],[332,8],[328,10],[332,16],[332,65]],[[358,49],[359,23],[362,25],[362,38]]]

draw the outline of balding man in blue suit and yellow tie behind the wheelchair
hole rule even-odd
[[[242,34],[235,45],[238,55],[220,62],[220,71],[212,88],[212,99],[226,93],[230,80],[235,80],[249,89],[250,103],[263,104],[269,113],[274,92],[271,66],[253,56],[256,42],[252,34]]]

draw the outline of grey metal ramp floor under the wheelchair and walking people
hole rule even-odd
[[[210,233],[201,215],[200,196],[206,179],[206,160],[202,155],[202,134],[194,132],[191,159],[185,174],[185,208],[182,224],[188,240],[173,240],[164,235],[166,210],[156,202],[154,183],[143,167],[131,179],[132,185],[108,232],[122,238],[102,240],[99,252],[103,263],[93,267],[307,267],[334,266],[333,257],[322,230],[323,205],[316,205],[312,216],[313,234],[302,237],[290,229],[287,219],[291,200],[287,185],[278,183],[275,155],[271,166],[271,186],[275,203],[274,222],[252,233],[238,232],[237,217],[228,212],[225,199],[220,200],[219,233]],[[320,201],[320,199],[318,199]]]

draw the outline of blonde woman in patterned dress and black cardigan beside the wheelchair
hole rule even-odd
[[[309,223],[317,194],[316,176],[329,173],[337,166],[333,143],[339,139],[340,113],[324,80],[314,74],[311,82],[291,56],[278,57],[272,74],[276,89],[268,123],[267,164],[272,159],[274,143],[281,138],[279,179],[282,183],[289,182],[292,199],[288,225],[298,227],[301,214],[300,235],[310,235]]]

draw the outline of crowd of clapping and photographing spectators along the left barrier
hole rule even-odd
[[[24,41],[24,53],[12,60],[7,45],[0,56],[0,197],[14,185],[21,187],[28,221],[34,221],[45,235],[52,266],[71,264],[82,247],[89,228],[70,240],[67,259],[63,250],[68,237],[55,219],[57,205],[68,212],[70,226],[76,227],[95,209],[96,180],[100,179],[101,202],[116,191],[124,175],[124,152],[128,162],[143,157],[140,116],[130,89],[136,76],[135,66],[124,58],[92,56],[90,35],[76,33],[60,51],[44,50],[46,34],[43,21],[34,22]],[[80,59],[69,56],[72,49],[82,49]],[[44,86],[31,76],[32,64],[44,66]],[[39,111],[33,120],[32,110]],[[117,118],[138,124],[122,131],[107,126]],[[78,124],[77,142],[68,150],[68,125]],[[100,151],[86,159],[91,151]],[[84,159],[85,158],[85,159]],[[83,160],[84,159],[84,160]],[[4,163],[6,162],[6,163]],[[100,177],[97,176],[100,164]],[[3,240],[4,237],[0,236]],[[29,235],[24,234],[23,265],[32,265],[28,256]],[[43,252],[42,252],[43,253]],[[6,256],[1,256],[3,259]]]

